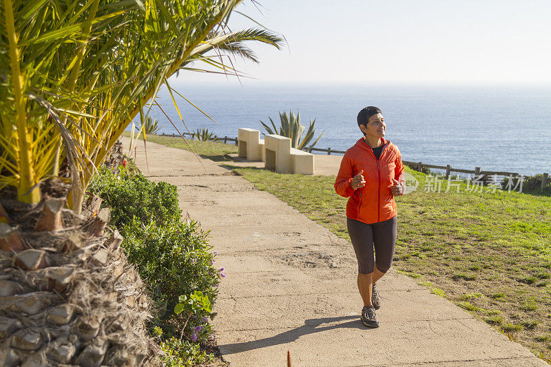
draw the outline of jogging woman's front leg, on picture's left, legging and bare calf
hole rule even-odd
[[[365,224],[358,220],[346,218],[350,240],[356,253],[358,274],[357,289],[364,302],[364,306],[372,306],[371,297],[373,275],[380,277],[379,271],[373,271],[373,229],[372,224]]]

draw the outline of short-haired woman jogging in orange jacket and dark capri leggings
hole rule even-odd
[[[377,328],[375,310],[380,308],[380,297],[375,282],[390,269],[394,257],[394,196],[404,193],[404,166],[396,145],[383,138],[386,124],[380,109],[362,109],[357,125],[364,137],[344,154],[335,191],[349,198],[346,225],[358,264],[357,287],[364,301],[362,322]]]

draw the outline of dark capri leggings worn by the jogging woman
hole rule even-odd
[[[396,244],[396,222],[396,217],[373,224],[346,218],[360,274],[373,273],[373,247],[377,270],[386,273],[391,269]]]

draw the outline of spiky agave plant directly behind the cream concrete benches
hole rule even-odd
[[[302,137],[302,133],[304,132],[304,126],[300,123],[300,112],[295,116],[292,111],[289,111],[289,115],[287,115],[287,112],[280,112],[280,120],[281,120],[281,126],[278,133],[278,128],[275,127],[275,123],[273,123],[273,120],[271,117],[268,117],[270,119],[271,127],[269,127],[267,124],[260,121],[262,126],[264,126],[264,129],[268,132],[268,134],[275,134],[275,135],[281,135],[286,136],[287,138],[291,138],[291,147],[295,149],[306,149],[306,147],[309,145],[311,140],[314,138],[315,134],[315,118],[312,121],[310,119],[310,125],[308,127],[308,130],[306,131],[306,135]],[[318,136],[317,139],[314,140],[314,142],[310,145],[310,147],[313,147],[318,143],[320,138],[322,137],[324,132]]]

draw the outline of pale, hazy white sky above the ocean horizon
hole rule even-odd
[[[284,36],[250,43],[251,79],[183,72],[182,83],[551,84],[549,0],[246,0],[237,8]],[[258,26],[240,14],[229,27]]]

